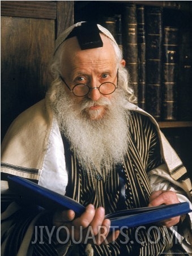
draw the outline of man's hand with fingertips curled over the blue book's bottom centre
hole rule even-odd
[[[110,220],[105,219],[105,209],[95,209],[92,204],[86,207],[86,211],[80,217],[75,217],[72,210],[56,212],[53,216],[53,225],[57,229],[65,226],[59,232],[60,240],[65,241],[70,234],[70,238],[80,244],[108,244],[116,240],[120,234],[119,230],[109,233]]]

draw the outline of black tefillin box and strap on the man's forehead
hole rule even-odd
[[[82,50],[103,47],[103,41],[96,23],[83,22],[81,26],[75,27],[65,40],[76,36]]]

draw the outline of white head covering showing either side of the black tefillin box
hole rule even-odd
[[[79,27],[82,26],[83,22],[78,22],[75,23],[74,25],[72,25],[71,27],[67,28],[65,31],[63,31],[61,33],[61,35],[58,36],[57,40],[56,40],[56,46],[55,46],[55,51],[57,51],[57,49],[60,47],[60,45],[66,40],[67,36],[69,36],[69,34],[71,33],[72,30],[74,30],[75,27]],[[110,40],[112,40],[116,45],[117,42],[114,39],[112,33],[110,33],[106,28],[102,27],[101,25],[97,24],[97,27],[99,28],[99,30],[104,33],[105,36],[109,37]]]

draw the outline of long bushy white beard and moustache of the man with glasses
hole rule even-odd
[[[85,98],[75,103],[63,86],[57,90],[52,108],[59,129],[69,140],[80,165],[90,174],[97,171],[106,177],[126,153],[129,114],[120,104],[123,99],[122,91],[113,93],[111,100],[101,97],[96,104],[104,105],[106,111],[97,119],[100,110],[88,110],[95,102]]]

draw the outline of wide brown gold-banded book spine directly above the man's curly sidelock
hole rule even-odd
[[[136,5],[127,4],[122,13],[123,58],[130,74],[130,85],[138,97],[138,44]]]

